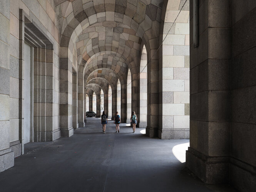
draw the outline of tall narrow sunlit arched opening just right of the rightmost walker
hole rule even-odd
[[[147,127],[147,50],[143,45],[139,79],[139,127]]]

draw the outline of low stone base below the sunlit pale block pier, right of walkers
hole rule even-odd
[[[158,129],[159,139],[189,139],[189,129]]]

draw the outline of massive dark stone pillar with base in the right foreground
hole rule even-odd
[[[199,1],[199,47],[190,1],[190,147],[186,166],[207,184],[228,183],[230,1]],[[223,14],[225,13],[225,14]]]

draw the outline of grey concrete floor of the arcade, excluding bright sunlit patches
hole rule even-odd
[[[136,134],[113,121],[102,132],[100,119],[87,118],[70,138],[25,145],[15,166],[0,173],[1,192],[207,192],[235,191],[206,185],[172,154],[189,140],[161,140]]]

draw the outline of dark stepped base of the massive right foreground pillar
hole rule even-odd
[[[229,157],[209,157],[189,147],[186,167],[206,184],[229,183]]]

